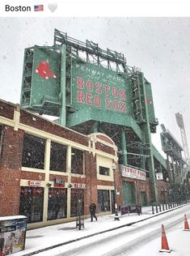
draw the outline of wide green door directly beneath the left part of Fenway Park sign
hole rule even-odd
[[[135,197],[135,184],[134,182],[122,182],[123,186],[123,204],[134,204],[136,203]]]

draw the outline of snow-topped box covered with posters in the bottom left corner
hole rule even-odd
[[[14,254],[25,248],[27,217],[0,217],[0,256]]]

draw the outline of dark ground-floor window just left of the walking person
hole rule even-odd
[[[72,189],[70,200],[70,216],[83,215],[84,213],[84,190]]]

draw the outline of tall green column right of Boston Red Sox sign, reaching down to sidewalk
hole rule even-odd
[[[149,166],[149,174],[150,174],[150,190],[152,194],[152,199],[154,203],[158,203],[158,191],[156,187],[156,178],[155,178],[155,170],[154,170],[154,156],[153,156],[153,147],[151,141],[151,134],[150,134],[150,122],[149,122],[149,113],[146,104],[146,87],[145,87],[145,80],[144,75],[141,73],[141,84],[142,84],[142,92],[144,97],[144,106],[145,106],[145,118],[146,123],[142,125],[142,131],[145,134],[146,143],[149,144],[150,147],[150,157],[148,158],[148,166]]]

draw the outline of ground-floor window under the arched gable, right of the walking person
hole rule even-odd
[[[109,190],[98,190],[98,207],[99,211],[110,211]]]

